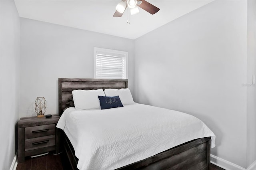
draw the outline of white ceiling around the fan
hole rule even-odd
[[[120,0],[15,0],[20,17],[136,39],[213,0],[147,0],[160,11],[112,17]],[[130,24],[126,23],[130,17]]]

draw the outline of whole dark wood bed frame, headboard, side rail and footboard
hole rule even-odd
[[[59,115],[72,100],[72,91],[77,89],[128,88],[127,79],[71,79],[59,78]],[[78,158],[74,148],[63,132],[64,150],[73,170],[77,170]],[[118,168],[118,170],[210,170],[211,138],[198,138],[170,148],[164,152]]]

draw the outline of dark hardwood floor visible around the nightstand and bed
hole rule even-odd
[[[65,154],[53,155],[50,152],[36,158],[25,158],[25,162],[19,163],[16,170],[71,170],[71,167]],[[224,169],[211,164],[211,170]]]

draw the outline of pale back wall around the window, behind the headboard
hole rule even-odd
[[[134,40],[21,18],[20,117],[35,115],[36,97],[46,114],[58,113],[58,77],[93,78],[93,47],[128,51],[133,91]]]

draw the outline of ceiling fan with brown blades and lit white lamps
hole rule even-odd
[[[130,12],[132,15],[137,14],[139,12],[139,8],[149,12],[150,14],[156,14],[160,9],[156,6],[150,4],[145,0],[122,0],[116,6],[116,12],[113,17],[121,17],[124,14],[126,8],[130,8]]]

